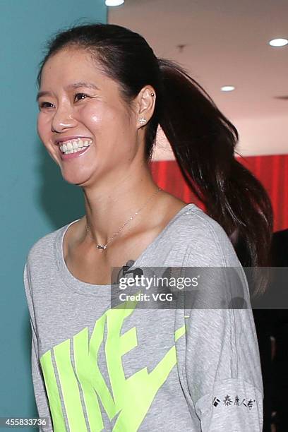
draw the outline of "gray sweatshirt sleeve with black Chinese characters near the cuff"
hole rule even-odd
[[[202,432],[262,432],[263,382],[246,276],[223,230],[209,228],[210,268],[198,268],[202,280],[185,314],[190,402]]]

